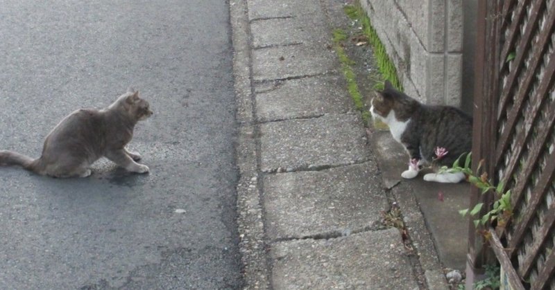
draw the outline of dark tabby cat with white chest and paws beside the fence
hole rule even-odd
[[[385,82],[384,91],[377,91],[371,101],[370,113],[389,126],[395,141],[401,143],[410,156],[405,179],[418,175],[422,165],[453,165],[456,158],[472,151],[472,118],[449,106],[422,105]],[[437,168],[434,168],[437,169]],[[425,181],[457,183],[463,173],[429,173]]]

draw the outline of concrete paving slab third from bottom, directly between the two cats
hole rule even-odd
[[[313,170],[366,161],[366,134],[360,124],[356,114],[261,124],[262,171]]]

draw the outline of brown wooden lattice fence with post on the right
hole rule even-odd
[[[493,248],[514,287],[555,289],[555,0],[479,1],[478,18],[473,164],[485,159],[514,210],[493,231],[502,249],[470,225],[469,264]],[[471,203],[492,199],[473,190]]]

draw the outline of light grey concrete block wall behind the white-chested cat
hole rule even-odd
[[[404,91],[427,104],[461,107],[463,0],[360,0]]]

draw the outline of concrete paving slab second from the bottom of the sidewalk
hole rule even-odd
[[[379,182],[372,162],[266,175],[266,235],[271,240],[302,239],[378,228],[389,208]]]

